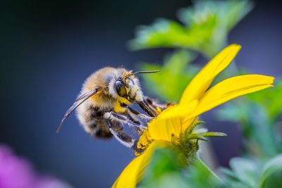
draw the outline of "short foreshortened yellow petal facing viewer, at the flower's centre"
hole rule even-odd
[[[187,106],[171,106],[163,111],[157,118],[148,123],[149,134],[152,139],[171,142],[173,137],[179,137],[183,130],[186,130],[187,123],[183,119],[194,111],[197,101]],[[183,126],[185,126],[183,128]]]

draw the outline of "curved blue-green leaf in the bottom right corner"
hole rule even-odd
[[[264,165],[260,177],[260,188],[281,187],[282,184],[282,155],[272,158]]]

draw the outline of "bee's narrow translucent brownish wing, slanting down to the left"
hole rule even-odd
[[[61,130],[61,127],[63,125],[63,122],[66,120],[66,118],[68,118],[69,115],[71,115],[71,113],[78,108],[78,106],[80,106],[80,104],[82,104],[84,101],[86,101],[87,99],[89,99],[91,96],[93,96],[94,94],[96,94],[99,91],[99,89],[95,89],[92,90],[90,92],[86,92],[85,94],[82,94],[80,96],[78,96],[78,99],[75,100],[75,102],[73,103],[73,105],[68,108],[68,111],[66,111],[65,115],[63,115],[63,118],[61,120],[61,123],[59,124],[59,126],[56,129],[56,132],[58,133]]]

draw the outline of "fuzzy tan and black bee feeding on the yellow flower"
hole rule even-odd
[[[80,95],[68,108],[61,123],[76,109],[76,115],[84,130],[93,137],[106,139],[114,137],[124,146],[137,149],[137,139],[123,131],[123,125],[133,127],[138,134],[147,128],[140,119],[151,120],[164,109],[157,101],[144,96],[136,75],[142,73],[157,73],[159,70],[140,71],[133,73],[125,68],[106,67],[92,73],[82,85]],[[145,113],[140,113],[130,105],[137,104]]]

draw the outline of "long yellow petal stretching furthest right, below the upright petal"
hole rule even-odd
[[[190,117],[200,115],[238,96],[272,87],[273,82],[274,77],[265,75],[240,75],[223,80],[202,96]]]

